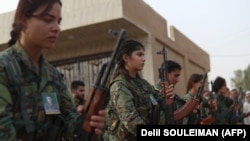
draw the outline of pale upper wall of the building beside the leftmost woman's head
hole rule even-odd
[[[62,3],[63,30],[122,17],[120,0],[62,0]]]

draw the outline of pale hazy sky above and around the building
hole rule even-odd
[[[250,0],[144,0],[210,55],[210,80],[222,76],[231,87],[234,71],[250,64]],[[14,10],[6,0],[0,13]]]

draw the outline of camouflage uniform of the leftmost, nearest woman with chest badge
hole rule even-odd
[[[59,127],[63,135],[72,140],[78,114],[61,73],[43,56],[39,60],[39,73],[36,72],[34,64],[19,43],[5,51],[16,58],[22,74],[10,78],[7,76],[7,66],[4,66],[3,59],[0,60],[0,139],[47,140],[46,137],[52,138]],[[11,84],[11,79],[20,79],[20,84]],[[42,93],[56,94],[60,114],[45,114]]]

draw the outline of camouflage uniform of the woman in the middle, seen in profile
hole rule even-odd
[[[112,82],[110,95],[106,109],[106,140],[136,141],[136,125],[161,123],[159,103],[162,102],[162,98],[146,80],[126,80],[120,75]]]

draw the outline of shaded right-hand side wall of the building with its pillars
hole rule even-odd
[[[143,70],[143,75],[148,81],[153,84],[159,81],[158,68],[162,58],[156,52],[161,50],[162,46],[167,47],[168,59],[178,62],[183,68],[180,82],[176,85],[177,93],[185,93],[187,80],[192,73],[210,71],[209,55],[174,26],[168,31],[167,19],[161,17],[146,3],[123,0],[123,7],[124,17],[148,33],[148,41],[145,42],[148,56]]]

